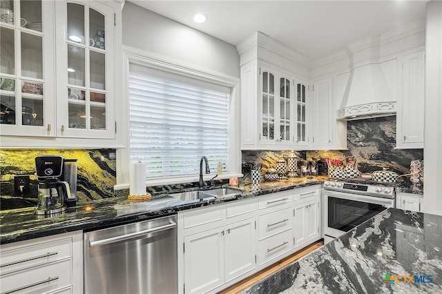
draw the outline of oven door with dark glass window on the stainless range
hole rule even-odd
[[[325,190],[324,234],[336,238],[377,215],[394,207],[394,199]],[[329,238],[325,238],[329,239]],[[326,242],[327,243],[327,242]]]

